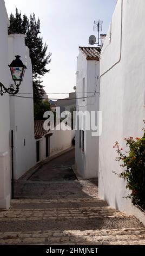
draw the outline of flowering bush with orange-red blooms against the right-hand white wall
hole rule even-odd
[[[142,208],[145,206],[145,129],[143,130],[142,138],[124,138],[129,147],[126,154],[123,153],[118,142],[114,145],[118,154],[116,161],[122,161],[120,166],[123,167],[123,171],[118,176],[127,181],[126,187],[131,190],[128,197],[132,199],[133,204]]]

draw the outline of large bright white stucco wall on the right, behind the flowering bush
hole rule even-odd
[[[123,138],[143,135],[144,17],[144,0],[117,1],[110,26],[111,35],[109,28],[100,66],[103,131],[99,142],[99,196],[107,200],[109,205],[129,214],[135,211],[130,199],[123,198],[129,192],[126,183],[112,172],[120,172],[113,145],[118,141],[125,150]]]

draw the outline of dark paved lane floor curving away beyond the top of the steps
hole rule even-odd
[[[74,195],[77,187],[77,179],[71,168],[74,161],[74,149],[51,161],[44,161],[27,180],[23,176],[15,183],[15,198],[59,198]]]

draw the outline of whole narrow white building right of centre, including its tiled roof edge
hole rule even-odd
[[[98,177],[98,137],[93,136],[91,112],[97,125],[100,95],[100,52],[97,47],[80,47],[76,81],[76,145],[75,169],[84,179]],[[79,99],[80,98],[80,99]],[[85,118],[85,113],[87,113]],[[80,116],[78,117],[78,115]],[[89,116],[90,118],[89,118]]]

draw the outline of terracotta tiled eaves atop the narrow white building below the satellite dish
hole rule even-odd
[[[99,60],[101,54],[100,47],[79,47],[80,52],[84,54],[87,60]]]

